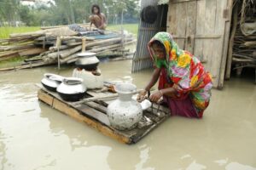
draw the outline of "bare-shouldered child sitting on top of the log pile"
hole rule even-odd
[[[105,30],[107,27],[106,16],[101,13],[101,8],[98,5],[92,5],[90,15],[90,27],[92,24],[100,30]]]

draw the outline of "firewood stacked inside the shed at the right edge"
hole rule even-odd
[[[241,74],[244,67],[256,69],[256,5],[249,0],[242,2],[235,5],[232,17],[232,63],[236,65],[237,75]]]

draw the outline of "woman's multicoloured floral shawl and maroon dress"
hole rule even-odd
[[[164,45],[166,48],[166,59],[157,59],[151,47],[154,41],[159,41]],[[154,60],[154,66],[162,70],[160,73],[159,89],[175,88],[177,91],[176,96],[166,100],[169,103],[171,112],[179,111],[184,113],[172,114],[201,117],[203,111],[209,105],[212,77],[205,70],[200,60],[193,54],[179,49],[177,43],[174,42],[172,36],[167,32],[158,32],[148,42],[148,50]],[[186,104],[184,105],[184,103]],[[188,105],[191,105],[191,107]],[[186,108],[188,111],[185,111]],[[195,113],[191,113],[191,110]],[[191,114],[185,112],[190,112]]]

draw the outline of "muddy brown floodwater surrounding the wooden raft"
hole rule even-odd
[[[131,60],[101,63],[105,79],[143,88],[152,71]],[[71,76],[73,68],[61,68]],[[137,144],[110,139],[38,101],[34,85],[55,66],[0,74],[0,169],[255,170],[256,85],[232,78],[212,90],[203,119],[170,117]]]

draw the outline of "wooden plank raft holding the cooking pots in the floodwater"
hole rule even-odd
[[[113,97],[117,98],[117,95],[96,93],[95,91],[88,91],[87,94],[90,94],[92,97],[83,99],[83,103],[67,102],[61,99],[57,93],[50,92],[41,86],[38,90],[38,99],[55,110],[61,111],[79,122],[84,122],[100,133],[125,144],[137,143],[170,115],[169,110],[165,106],[153,105],[153,109],[149,108],[147,111],[143,111],[143,119],[138,123],[137,127],[129,131],[120,131],[110,126],[107,107],[111,100],[105,100],[112,96],[113,101]]]

